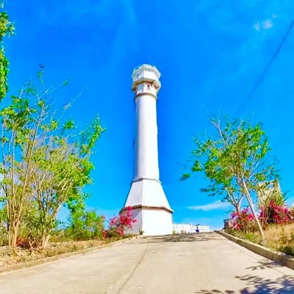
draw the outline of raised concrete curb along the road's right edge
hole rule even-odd
[[[285,267],[288,267],[288,268],[294,270],[294,258],[290,255],[287,255],[282,252],[273,251],[267,247],[252,243],[250,241],[245,241],[243,239],[229,235],[225,232],[216,231],[216,233],[220,234],[221,236],[227,238],[230,241],[233,241],[233,242],[247,248],[248,250],[250,250],[256,254],[259,254],[263,257],[266,257],[274,262],[277,262]]]

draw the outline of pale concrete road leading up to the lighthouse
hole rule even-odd
[[[147,237],[0,275],[0,294],[294,294],[294,270],[216,233]]]

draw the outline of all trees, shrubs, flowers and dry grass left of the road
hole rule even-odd
[[[2,5],[3,9],[3,5]],[[14,25],[0,13],[0,267],[93,247],[128,236],[131,209],[108,221],[87,210],[95,165],[91,157],[105,132],[97,115],[78,129],[70,113],[81,95],[64,101],[70,80],[47,85],[39,64],[35,79],[7,96],[6,37]],[[3,101],[2,101],[3,100]],[[58,220],[66,207],[66,223]]]

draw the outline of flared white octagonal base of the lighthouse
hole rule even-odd
[[[132,207],[136,220],[133,229],[125,233],[144,235],[172,234],[172,209],[161,183],[154,179],[134,180],[124,204]],[[122,211],[124,210],[122,209]]]

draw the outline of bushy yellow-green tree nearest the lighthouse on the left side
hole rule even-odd
[[[91,184],[90,172],[94,165],[90,161],[95,146],[104,128],[99,118],[75,135],[73,122],[66,122],[58,129],[43,125],[40,145],[33,155],[32,201],[37,203],[37,217],[42,232],[42,247],[49,242],[50,233],[56,226],[56,217],[60,208],[69,203],[78,202],[82,197],[81,189]],[[48,129],[51,129],[48,132]],[[46,138],[44,138],[44,136]]]

